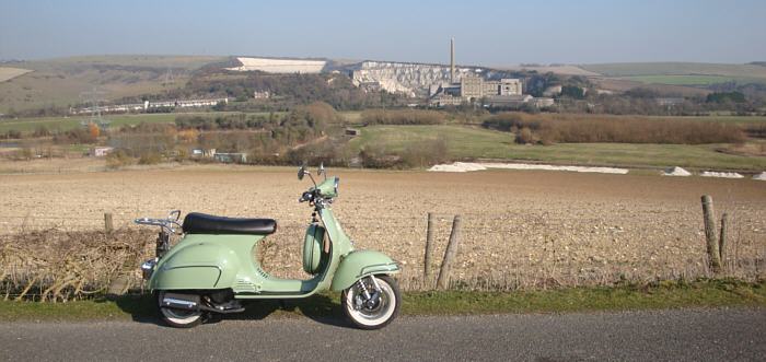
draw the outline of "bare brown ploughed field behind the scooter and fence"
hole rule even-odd
[[[340,177],[333,208],[345,231],[358,248],[399,260],[405,288],[423,284],[428,212],[438,220],[433,270],[452,217],[462,214],[453,281],[469,287],[707,276],[704,194],[713,197],[718,218],[722,211],[730,215],[727,272],[765,275],[764,182],[569,172],[329,172]],[[277,234],[267,237],[257,257],[276,276],[305,278],[301,247],[311,210],[298,198],[309,186],[285,167],[0,175],[0,234],[101,230],[104,212],[114,214],[116,227],[139,227],[132,219],[163,217],[172,209],[274,218]]]

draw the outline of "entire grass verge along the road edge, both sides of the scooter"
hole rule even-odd
[[[339,304],[337,293],[286,301],[283,305],[264,301],[248,306],[240,318],[260,319],[269,315],[341,317]],[[572,313],[721,306],[765,307],[764,282],[700,280],[518,292],[405,292],[402,314]],[[153,316],[153,301],[149,295],[68,303],[0,302],[0,320],[128,320]]]

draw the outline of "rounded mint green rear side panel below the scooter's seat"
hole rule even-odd
[[[149,279],[149,289],[228,288],[237,269],[236,255],[228,247],[205,243],[187,245],[155,267]]]

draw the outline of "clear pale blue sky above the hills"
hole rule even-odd
[[[253,55],[446,62],[766,60],[766,1],[0,0],[0,59]]]

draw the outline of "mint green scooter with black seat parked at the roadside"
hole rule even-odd
[[[317,185],[304,166],[298,171],[298,179],[309,176],[314,184],[299,199],[314,209],[303,242],[303,270],[313,276],[307,280],[275,278],[254,259],[260,242],[277,231],[275,220],[193,212],[181,224],[178,210],[167,219],[137,219],[138,224],[161,227],[156,257],[141,266],[161,318],[188,328],[213,313],[243,312],[243,301],[299,299],[332,290],[341,292],[343,310],[355,326],[378,329],[390,324],[402,305],[391,277],[399,267],[382,253],[353,249],[330,208],[338,196],[338,177],[327,178],[320,166],[317,175],[322,174],[325,179]],[[178,231],[183,237],[171,247],[171,235]]]

